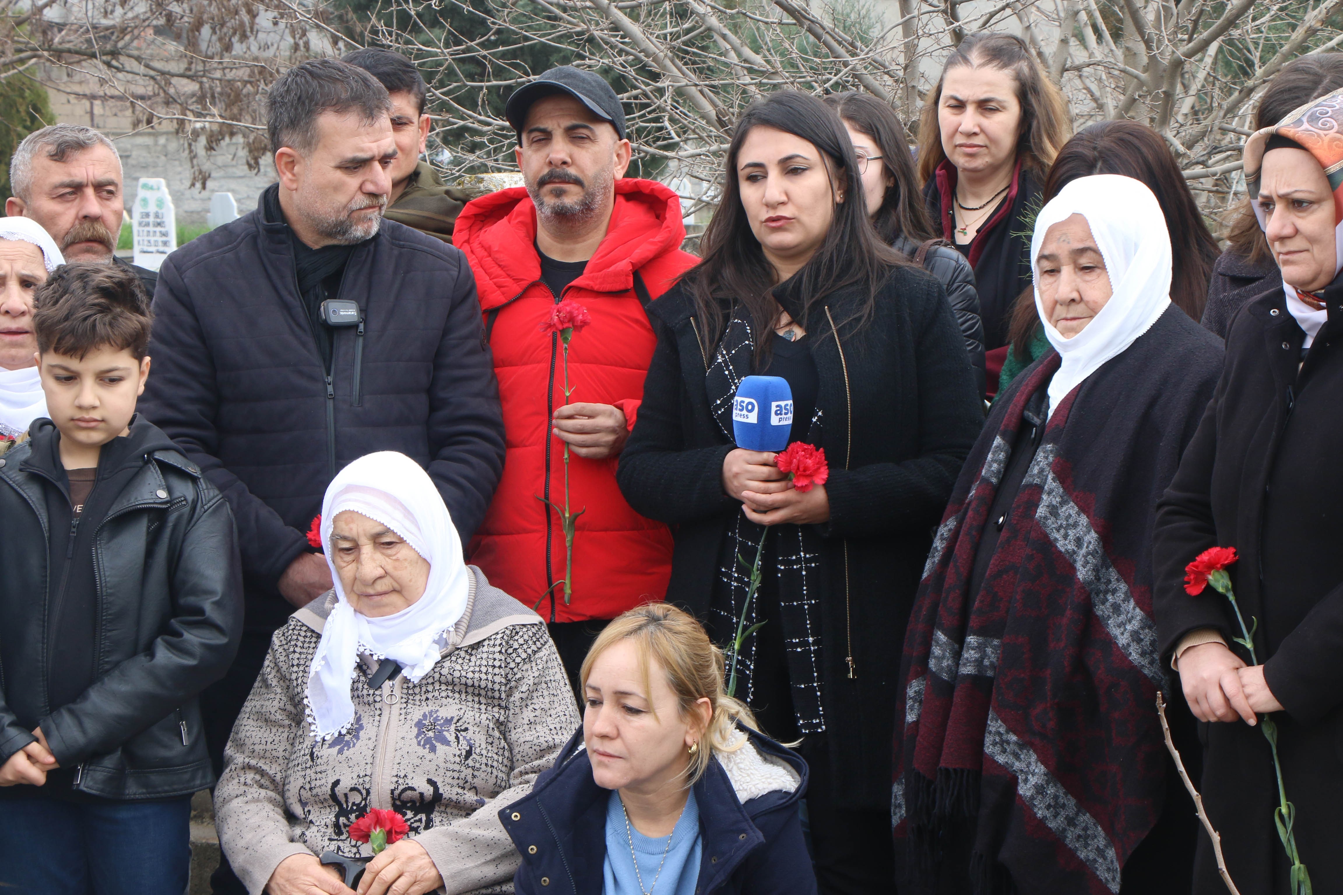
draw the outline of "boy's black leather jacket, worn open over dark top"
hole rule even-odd
[[[126,437],[140,467],[98,519],[93,686],[52,711],[60,643],[48,605],[51,420],[0,458],[0,762],[42,727],[62,769],[47,785],[167,798],[214,785],[196,694],[223,676],[242,633],[242,562],[219,491],[153,424]],[[31,786],[7,788],[7,793]]]

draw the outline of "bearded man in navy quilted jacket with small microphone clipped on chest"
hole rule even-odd
[[[267,107],[279,182],[164,262],[142,403],[238,519],[246,625],[203,699],[215,762],[271,633],[332,586],[305,531],[336,472],[372,451],[410,455],[465,542],[504,460],[466,260],[381,219],[396,156],[387,90],[317,59],[277,81]]]

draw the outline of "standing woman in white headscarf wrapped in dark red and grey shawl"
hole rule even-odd
[[[905,639],[901,892],[1189,891],[1151,547],[1222,350],[1171,305],[1170,246],[1128,177],[1074,180],[1035,219],[1052,350],[966,462]]]

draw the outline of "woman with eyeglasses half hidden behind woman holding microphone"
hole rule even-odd
[[[839,113],[854,156],[868,217],[877,235],[896,251],[921,264],[947,290],[947,301],[975,365],[979,393],[984,393],[984,326],[979,318],[975,268],[966,256],[933,231],[919,195],[909,138],[894,110],[876,97],[858,91],[830,94],[827,106]],[[908,197],[908,201],[907,201]]]

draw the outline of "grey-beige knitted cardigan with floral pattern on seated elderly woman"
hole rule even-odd
[[[219,841],[248,892],[290,855],[369,857],[348,831],[371,808],[406,819],[443,876],[439,892],[513,891],[518,856],[498,810],[530,792],[579,717],[540,616],[471,572],[438,664],[418,683],[398,675],[372,690],[375,663],[363,657],[353,723],[325,742],[304,698],[334,594],[275,632],[215,789]]]

